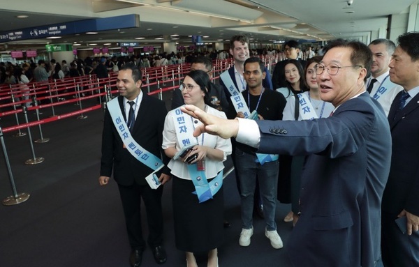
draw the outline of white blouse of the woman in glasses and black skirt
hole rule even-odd
[[[207,113],[212,114],[214,116],[219,116],[223,119],[227,118],[224,112],[220,112],[219,110],[216,110],[212,107],[207,107]],[[175,122],[173,120],[174,116],[175,109],[171,110],[166,116],[166,120],[164,122],[162,148],[166,149],[169,147],[175,147],[177,151],[179,151],[182,148],[182,146],[180,146],[179,142],[177,142]],[[194,119],[187,114],[185,114],[185,118],[193,119],[193,124],[195,125],[195,127],[198,127],[198,125],[203,124],[198,119]],[[210,135],[208,133],[204,133],[203,135],[200,135],[196,138],[198,144],[200,146],[204,145],[209,146],[210,148],[220,149],[224,153],[223,161],[226,160],[227,155],[230,155],[232,150],[230,139],[223,139],[219,136]],[[204,142],[204,144],[202,144],[202,142]],[[214,178],[219,173],[219,171],[224,169],[223,161],[205,158],[205,176],[207,176],[207,179]],[[191,177],[189,176],[188,167],[186,163],[182,162],[182,160],[171,159],[168,164],[168,167],[171,169],[171,174],[173,174],[174,176],[186,180],[191,180]]]

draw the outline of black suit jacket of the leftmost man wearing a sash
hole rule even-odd
[[[123,99],[124,97],[118,96],[119,107],[125,116]],[[144,93],[132,136],[140,146],[163,159],[163,163],[166,165],[163,167],[163,173],[170,175],[170,169],[167,167],[170,159],[161,148],[166,114],[166,105],[163,101]],[[126,186],[133,185],[134,182],[139,185],[147,185],[145,177],[153,171],[135,159],[124,148],[124,143],[112,122],[109,110],[106,109],[102,133],[101,176],[110,176],[112,168],[115,181]]]

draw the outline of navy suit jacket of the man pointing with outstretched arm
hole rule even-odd
[[[380,104],[365,92],[326,119],[256,123],[258,152],[307,155],[301,217],[286,245],[293,265],[374,266],[391,154]]]

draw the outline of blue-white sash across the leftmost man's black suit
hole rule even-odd
[[[119,107],[118,98],[110,100],[107,107],[110,116],[112,117],[112,122],[114,123],[115,128],[117,128],[117,132],[121,137],[122,142],[124,142],[126,149],[128,149],[128,152],[142,164],[154,170],[152,174],[149,174],[149,176],[152,176],[159,171],[159,169],[164,166],[163,162],[160,158],[156,157],[156,155],[149,153],[149,151],[145,150],[137,142],[135,142],[128,126],[126,125],[126,122],[124,121],[124,116],[122,115],[121,108]]]

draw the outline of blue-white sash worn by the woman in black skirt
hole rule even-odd
[[[185,116],[180,108],[175,109],[174,112],[175,116],[173,116],[173,121],[176,128],[177,142],[179,142],[182,147],[187,146],[195,139],[195,137],[193,137],[193,121],[191,120],[191,116]],[[214,196],[221,188],[221,185],[223,185],[223,171],[220,171],[219,174],[208,183],[205,171],[198,171],[196,163],[187,164],[187,167],[196,190],[192,193],[198,196],[199,202],[202,203],[208,199],[212,199],[212,196]]]

